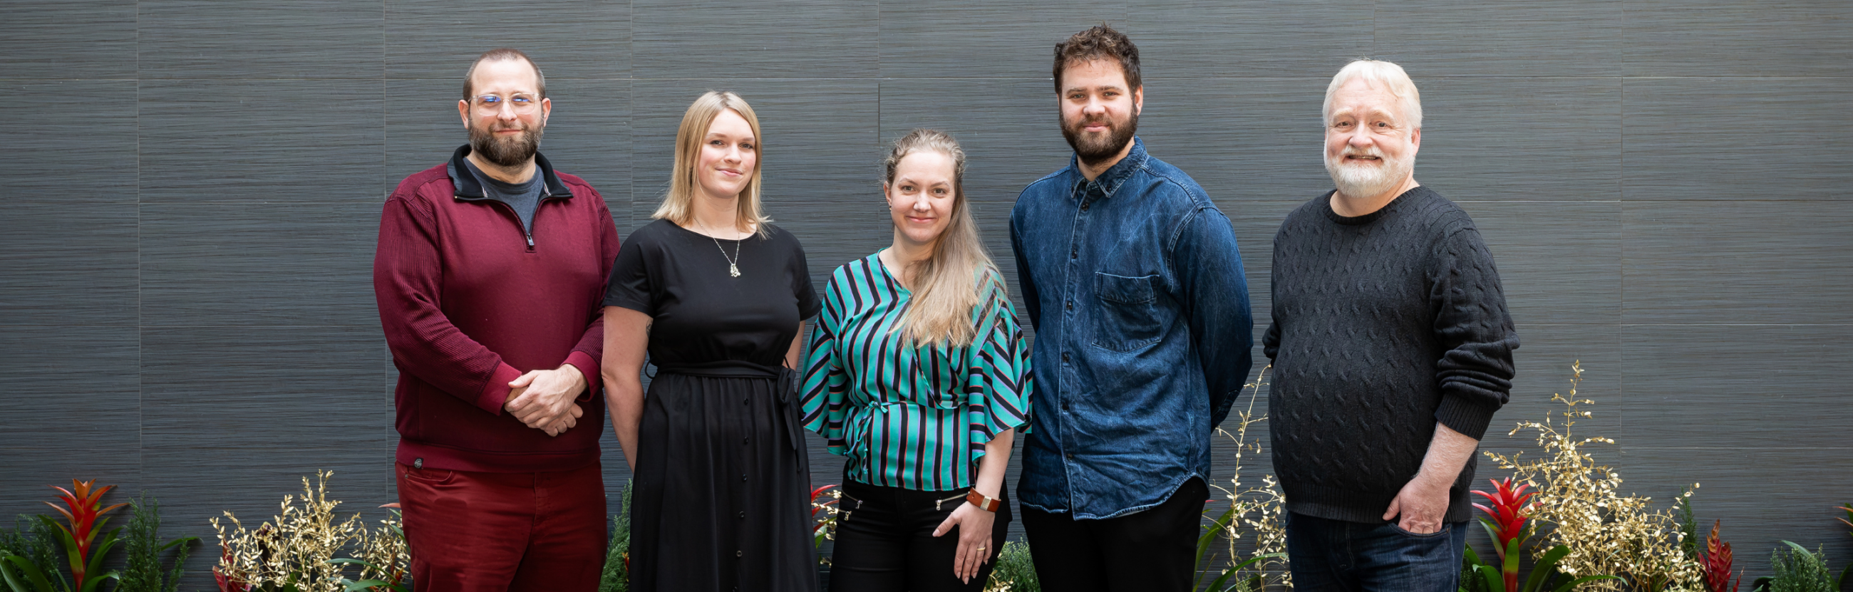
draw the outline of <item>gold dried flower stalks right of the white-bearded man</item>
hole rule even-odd
[[[1569,379],[1569,396],[1551,396],[1553,401],[1564,403],[1564,411],[1557,413],[1562,422],[1545,416],[1544,422],[1519,422],[1508,433],[1536,431],[1544,459],[1519,461],[1519,453],[1486,451],[1486,457],[1501,468],[1514,470],[1516,481],[1538,488],[1538,496],[1532,498],[1538,503],[1532,518],[1551,525],[1547,535],[1551,542],[1534,546],[1534,553],[1542,555],[1564,544],[1569,546],[1569,555],[1558,562],[1564,574],[1620,577],[1582,585],[1582,590],[1703,590],[1703,572],[1681,549],[1684,533],[1673,512],[1653,509],[1653,498],[1621,494],[1621,475],[1595,464],[1584,451],[1588,446],[1614,444],[1614,440],[1579,438],[1571,433],[1579,418],[1592,416],[1581,405],[1595,401],[1577,398],[1577,387],[1582,383],[1581,361],[1569,368],[1575,372]]]

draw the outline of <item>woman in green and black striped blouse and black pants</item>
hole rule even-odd
[[[849,457],[830,590],[982,590],[1028,429],[1028,344],[971,222],[951,135],[884,163],[895,240],[830,274],[806,355],[804,427]]]

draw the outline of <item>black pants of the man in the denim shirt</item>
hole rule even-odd
[[[1164,503],[1119,518],[1075,520],[1023,507],[1036,579],[1062,592],[1188,592],[1208,498],[1210,488],[1193,477]]]

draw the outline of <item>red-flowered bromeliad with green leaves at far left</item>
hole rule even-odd
[[[50,501],[44,501],[44,505],[63,514],[69,525],[57,524],[52,516],[33,516],[46,525],[46,529],[35,531],[35,538],[57,540],[65,548],[63,562],[70,570],[70,579],[67,581],[57,574],[57,561],[33,561],[26,555],[6,553],[6,557],[0,557],[0,564],[4,564],[0,566],[0,581],[15,592],[95,592],[104,581],[119,577],[117,572],[104,572],[102,564],[109,549],[115,548],[117,535],[122,529],[104,531],[104,525],[109,524],[109,518],[104,514],[128,503],[104,507],[102,498],[115,485],[96,487],[96,479],[70,479],[69,490],[63,487],[52,488],[59,492],[57,500],[65,507]]]

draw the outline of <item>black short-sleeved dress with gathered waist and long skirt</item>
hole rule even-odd
[[[815,592],[810,466],[782,372],[821,303],[804,248],[776,226],[715,240],[669,220],[634,231],[604,305],[650,314],[630,505],[632,590]],[[719,244],[717,244],[719,242]]]

